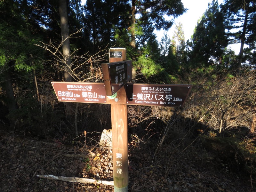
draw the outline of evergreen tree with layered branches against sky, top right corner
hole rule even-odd
[[[255,0],[225,0],[221,5],[221,12],[225,17],[224,23],[228,29],[229,43],[241,44],[237,63],[240,73],[242,63],[246,63],[246,59],[250,60],[255,54],[256,2]],[[244,57],[244,45],[248,46],[246,57]],[[251,65],[255,67],[255,63]]]

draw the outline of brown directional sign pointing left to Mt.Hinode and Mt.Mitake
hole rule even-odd
[[[106,103],[103,83],[52,82],[59,101],[80,103]]]

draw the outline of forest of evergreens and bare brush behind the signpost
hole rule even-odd
[[[255,175],[256,1],[213,0],[187,42],[174,23],[185,12],[181,0],[1,0],[1,127],[70,143],[86,131],[97,143],[111,127],[110,106],[60,103],[51,82],[102,82],[108,49],[124,47],[132,82],[193,85],[183,108],[129,106],[131,141],[193,144],[234,173]],[[158,42],[154,30],[172,25],[173,36]],[[230,44],[240,44],[238,55]]]

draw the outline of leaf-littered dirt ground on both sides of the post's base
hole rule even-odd
[[[62,140],[32,140],[1,134],[0,191],[114,191],[113,186],[39,178],[37,175],[113,180],[109,148],[65,145]],[[252,192],[254,180],[217,169],[209,158],[165,146],[158,153],[129,144],[129,191]],[[218,166],[218,165],[217,165]],[[220,165],[221,166],[221,165]]]

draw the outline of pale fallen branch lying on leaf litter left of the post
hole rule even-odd
[[[88,179],[88,178],[80,178],[80,177],[63,177],[63,176],[54,176],[54,175],[36,175],[40,178],[45,178],[49,180],[62,180],[68,182],[79,182],[79,183],[96,183],[96,184],[103,184],[103,185],[112,185],[114,186],[113,181],[103,181],[103,180],[95,180],[95,179]]]

